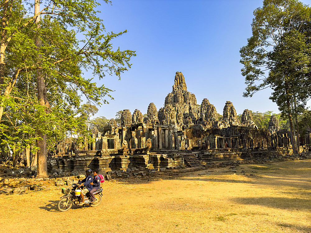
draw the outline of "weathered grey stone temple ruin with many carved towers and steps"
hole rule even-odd
[[[93,143],[75,144],[70,139],[59,142],[57,158],[49,169],[192,167],[292,153],[290,132],[279,130],[275,116],[271,117],[268,129],[258,129],[248,109],[239,121],[230,101],[224,103],[220,116],[207,98],[198,105],[195,95],[187,90],[183,74],[176,72],[164,107],[157,110],[150,103],[145,118],[138,109],[133,114],[124,109],[121,125],[111,119],[104,131],[94,131]],[[300,141],[310,144],[310,135],[308,131]]]

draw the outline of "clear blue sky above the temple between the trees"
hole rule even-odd
[[[310,4],[311,0],[303,1]],[[176,71],[185,77],[188,91],[197,103],[207,98],[222,114],[231,101],[240,114],[244,109],[278,112],[265,89],[244,98],[239,49],[251,36],[253,11],[259,0],[112,0],[100,7],[107,30],[128,30],[114,39],[121,50],[136,51],[132,68],[121,80],[106,76],[105,84],[114,100],[99,107],[94,117],[115,118],[119,110],[147,112],[153,102],[157,110],[172,91]]]

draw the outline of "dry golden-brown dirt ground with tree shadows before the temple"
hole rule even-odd
[[[59,212],[61,189],[0,195],[2,232],[311,232],[311,160],[106,181],[98,207]],[[245,171],[241,173],[241,171]],[[252,174],[253,176],[251,176]]]

